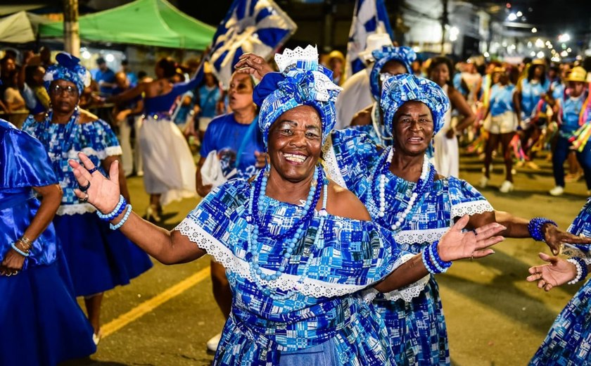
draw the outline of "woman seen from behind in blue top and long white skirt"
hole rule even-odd
[[[170,117],[178,96],[196,89],[203,79],[200,72],[189,82],[172,83],[177,64],[161,58],[155,66],[156,80],[142,82],[108,101],[127,101],[144,96],[144,121],[139,130],[144,162],[144,188],[150,195],[146,219],[160,222],[162,206],[182,198],[197,196],[195,161],[181,130]]]

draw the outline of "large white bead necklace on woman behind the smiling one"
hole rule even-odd
[[[402,213],[398,213],[398,219],[392,225],[388,224],[384,217],[386,216],[386,173],[388,169],[390,169],[390,163],[392,163],[392,159],[394,156],[394,148],[389,147],[390,149],[388,153],[384,152],[383,157],[381,158],[380,163],[376,165],[376,168],[371,173],[371,191],[369,196],[371,197],[371,203],[374,207],[377,206],[378,208],[378,219],[383,223],[386,224],[386,227],[390,227],[395,232],[400,231],[402,229],[402,224],[405,220],[410,220],[414,215],[414,211],[416,210],[416,203],[419,200],[419,197],[424,196],[426,188],[428,187],[428,182],[433,180],[435,175],[435,170],[430,169],[430,163],[428,162],[428,158],[425,156],[423,159],[423,167],[421,169],[421,176],[419,177],[419,181],[417,185],[414,186],[412,189],[412,193],[409,197],[409,202],[407,207],[405,208]],[[379,174],[379,182],[374,184],[377,175]],[[379,190],[377,194],[377,198],[375,197],[375,190],[377,185],[377,189]],[[379,205],[376,205],[376,201],[379,202]]]

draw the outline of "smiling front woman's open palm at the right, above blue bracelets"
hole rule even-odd
[[[469,216],[462,218],[450,227],[438,244],[439,256],[442,260],[450,262],[452,260],[464,258],[482,258],[495,253],[489,246],[500,243],[504,240],[503,236],[497,236],[504,229],[503,225],[497,222],[478,227],[471,232],[462,232],[469,221]]]

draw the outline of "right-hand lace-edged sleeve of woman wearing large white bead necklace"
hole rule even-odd
[[[449,177],[451,218],[495,210],[484,196],[463,179]]]

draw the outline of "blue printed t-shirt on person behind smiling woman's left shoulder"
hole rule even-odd
[[[205,130],[205,136],[201,142],[201,156],[205,158],[210,151],[216,150],[224,175],[228,175],[232,169],[237,168],[238,173],[232,178],[252,177],[257,172],[255,151],[265,152],[265,145],[258,126],[253,126],[249,131],[250,127],[251,125],[236,122],[234,113],[214,118]],[[243,146],[241,158],[236,167],[236,155],[241,146]]]

